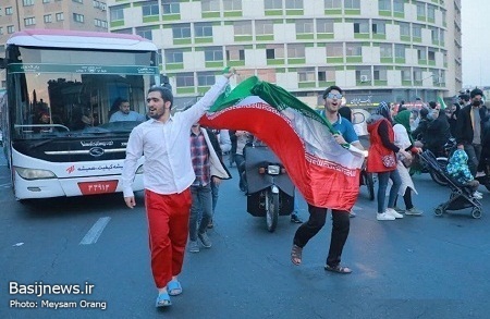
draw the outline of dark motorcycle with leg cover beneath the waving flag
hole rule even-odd
[[[267,230],[273,232],[279,216],[290,216],[294,210],[294,184],[269,147],[245,146],[244,155],[247,212],[266,217]]]

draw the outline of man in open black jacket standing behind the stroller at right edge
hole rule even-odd
[[[481,155],[481,136],[483,124],[488,121],[487,108],[482,105],[483,93],[479,88],[470,91],[470,105],[461,109],[456,121],[457,148],[468,155],[469,171],[477,174]]]

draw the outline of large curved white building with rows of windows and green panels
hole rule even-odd
[[[177,96],[225,65],[299,97],[425,100],[462,87],[460,0],[108,0],[109,30],[161,48]]]

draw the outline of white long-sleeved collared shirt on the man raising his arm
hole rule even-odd
[[[215,103],[228,85],[221,76],[192,108],[170,116],[166,123],[150,119],[130,134],[122,173],[124,197],[134,196],[137,160],[145,155],[143,182],[146,189],[169,195],[184,192],[196,179],[191,160],[188,132]]]

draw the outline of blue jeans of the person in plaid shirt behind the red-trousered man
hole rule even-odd
[[[209,221],[212,218],[212,195],[211,185],[191,186],[193,205],[191,206],[191,217],[188,221],[188,236],[191,241],[197,241],[197,232],[206,233]],[[199,221],[199,212],[203,218]],[[199,228],[197,226],[199,224]]]

